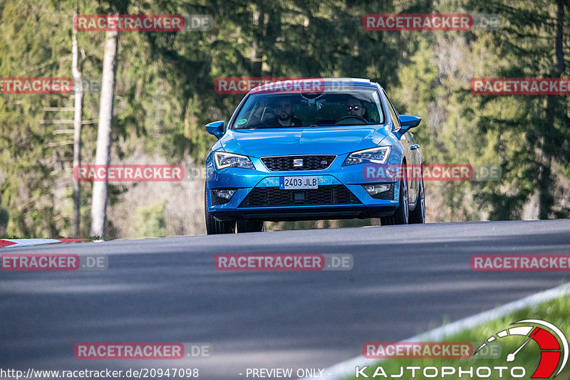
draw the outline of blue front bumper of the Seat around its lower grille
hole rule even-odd
[[[228,167],[217,170],[207,160],[208,211],[220,221],[296,221],[392,215],[399,206],[400,182],[369,181],[363,175],[364,165],[343,167],[345,158],[342,155],[336,157],[327,169],[307,171],[269,171],[255,157],[250,159],[256,169]],[[281,190],[281,176],[318,176],[318,189]],[[380,196],[385,199],[376,199],[363,188],[366,184],[391,184],[391,191]],[[212,206],[210,189],[236,191],[227,203]]]

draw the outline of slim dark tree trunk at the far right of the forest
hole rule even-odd
[[[552,70],[552,78],[560,78],[564,73],[564,0],[557,0],[556,11],[556,66]],[[551,190],[551,164],[554,147],[554,120],[559,95],[547,95],[546,97],[546,122],[540,139],[541,155],[539,157],[539,219],[547,219],[550,216],[554,204],[554,196]]]

